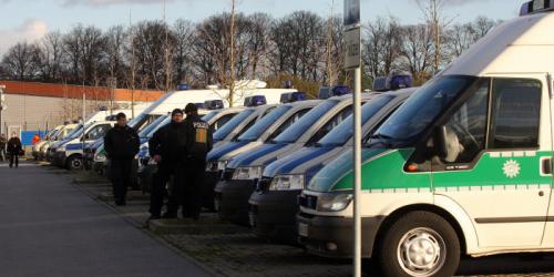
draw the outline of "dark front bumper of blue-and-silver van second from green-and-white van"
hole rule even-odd
[[[217,183],[216,197],[218,198],[219,217],[239,225],[248,225],[248,212],[252,193],[256,182],[253,179],[228,179]]]

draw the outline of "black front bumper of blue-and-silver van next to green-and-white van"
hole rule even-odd
[[[254,233],[285,243],[297,243],[298,195],[301,191],[268,191],[253,193],[249,199],[249,222]]]

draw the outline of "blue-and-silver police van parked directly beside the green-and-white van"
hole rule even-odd
[[[387,92],[368,101],[361,107],[362,133],[368,135],[413,90]],[[317,143],[280,157],[264,168],[248,201],[249,224],[256,235],[285,243],[297,240],[297,198],[305,184],[321,167],[352,147],[352,121],[349,116]]]

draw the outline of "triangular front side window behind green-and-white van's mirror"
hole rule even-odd
[[[444,163],[470,163],[485,147],[489,85],[489,80],[478,83],[445,124],[449,155]]]

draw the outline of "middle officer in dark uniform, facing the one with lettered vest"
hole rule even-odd
[[[150,196],[150,219],[158,219],[164,203],[165,185],[173,176],[173,186],[164,218],[176,218],[184,195],[186,129],[183,111],[172,112],[172,122],[161,127],[148,142],[150,156],[157,163],[157,172],[152,178]]]

